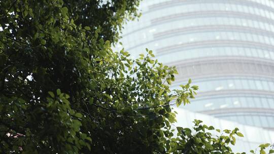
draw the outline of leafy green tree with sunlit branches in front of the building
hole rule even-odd
[[[232,153],[237,129],[214,137],[195,121],[174,137],[172,105],[194,98],[191,80],[171,91],[175,67],[110,48],[138,4],[0,2],[2,153]]]

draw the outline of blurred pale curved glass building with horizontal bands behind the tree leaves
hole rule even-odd
[[[139,21],[124,26],[123,47],[135,58],[148,48],[176,65],[173,89],[189,78],[199,86],[183,112],[274,130],[273,1],[144,0],[140,10]]]

